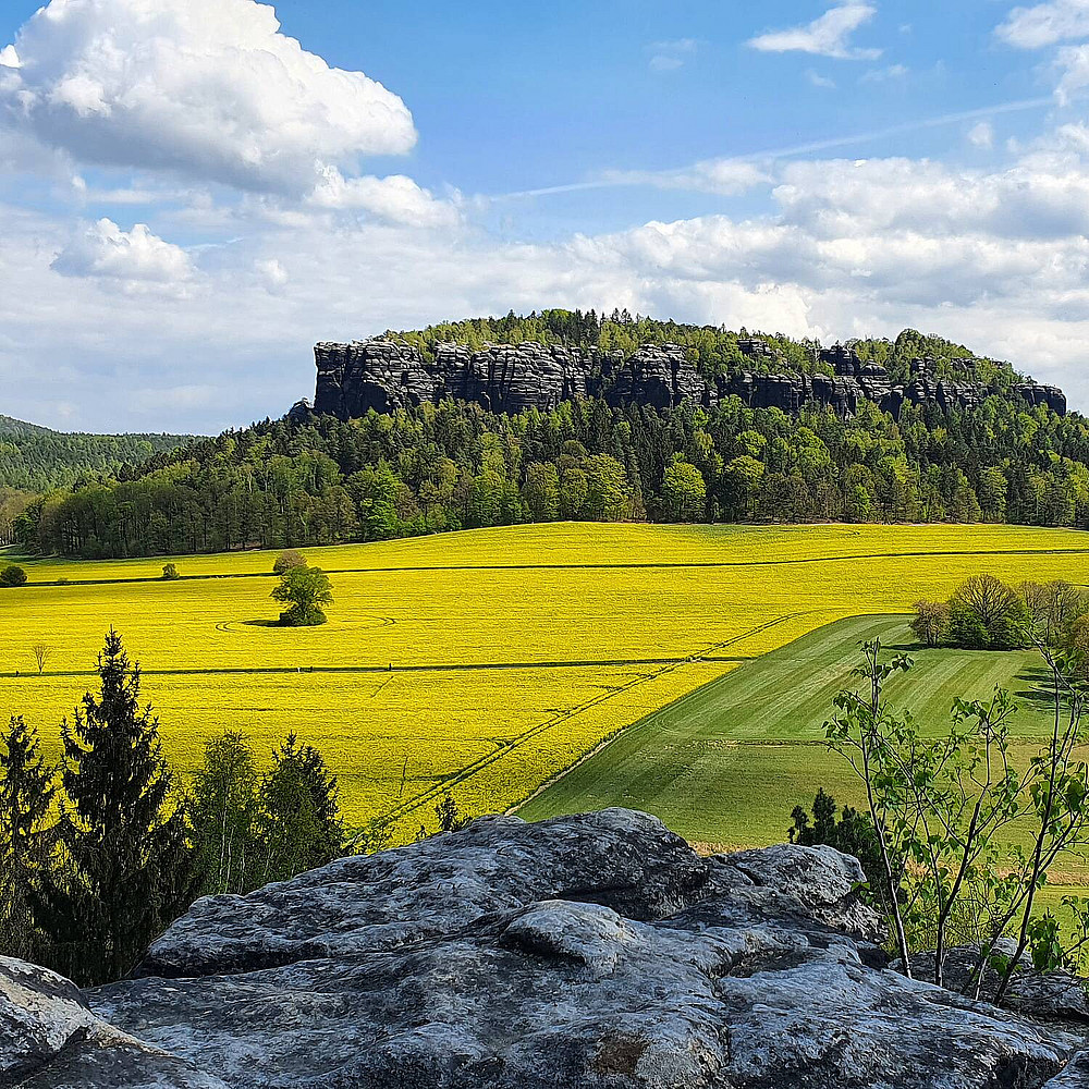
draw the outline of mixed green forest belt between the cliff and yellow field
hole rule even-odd
[[[30,551],[113,558],[382,540],[525,522],[1089,524],[1089,425],[999,395],[841,419],[564,403],[446,403],[269,421],[53,491],[15,519]]]

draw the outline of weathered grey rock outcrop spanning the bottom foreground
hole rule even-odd
[[[138,978],[82,999],[0,962],[0,1085],[1089,1084],[1085,1025],[884,967],[861,878],[828,847],[703,859],[627,810],[482,819],[199,901]]]

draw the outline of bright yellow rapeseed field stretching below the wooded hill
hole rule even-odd
[[[113,625],[179,769],[220,730],[262,757],[294,730],[340,778],[351,824],[395,812],[405,836],[433,827],[443,790],[469,813],[511,807],[830,621],[903,612],[980,571],[1089,584],[1089,537],[999,526],[555,524],[304,551],[335,597],[319,628],[261,623],[278,613],[270,552],[174,558],[178,582],[155,580],[167,558],[28,563],[29,585],[0,590],[0,714],[56,754]]]

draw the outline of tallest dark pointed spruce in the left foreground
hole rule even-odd
[[[159,720],[150,706],[140,709],[139,665],[130,665],[112,628],[98,674],[98,694],[88,692],[74,722],[61,724],[65,866],[44,890],[40,916],[66,974],[84,983],[127,974],[194,886]]]

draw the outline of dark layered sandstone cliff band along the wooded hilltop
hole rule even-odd
[[[743,352],[768,366],[774,355],[759,340],[741,342]],[[752,408],[795,413],[818,404],[841,416],[855,413],[869,400],[898,415],[905,401],[939,405],[943,409],[971,408],[987,395],[975,381],[970,360],[956,378],[938,378],[932,359],[919,359],[911,381],[893,386],[888,371],[862,364],[841,346],[821,353],[832,375],[769,374],[745,370],[730,378],[705,378],[676,345],[644,346],[633,355],[578,352],[542,344],[489,345],[470,352],[457,344],[440,344],[433,362],[396,341],[370,340],[353,344],[318,344],[314,411],[342,419],[371,408],[391,412],[448,399],[470,401],[502,413],[551,408],[575,396],[603,397],[610,405],[646,404],[669,408],[688,400],[710,406],[737,395]],[[1020,383],[1015,394],[1030,405],[1047,404],[1066,413],[1066,397],[1053,386]]]

